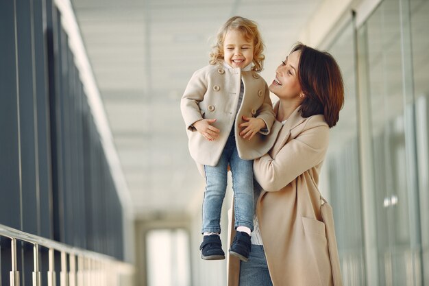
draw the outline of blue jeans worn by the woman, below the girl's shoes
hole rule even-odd
[[[249,261],[240,261],[239,286],[273,286],[264,247],[252,244]]]

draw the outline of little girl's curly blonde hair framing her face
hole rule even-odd
[[[225,40],[226,33],[230,29],[238,29],[243,33],[246,40],[253,40],[254,67],[252,67],[252,70],[258,72],[262,71],[263,61],[265,60],[265,56],[262,52],[264,51],[265,45],[260,36],[258,25],[254,21],[241,16],[232,17],[219,29],[219,32],[217,33],[217,43],[212,47],[212,51],[210,52],[209,63],[219,64],[224,60],[223,41]]]

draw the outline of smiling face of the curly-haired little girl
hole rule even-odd
[[[223,58],[230,67],[243,69],[254,60],[254,43],[238,29],[229,29],[223,39]]]

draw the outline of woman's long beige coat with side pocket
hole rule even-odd
[[[269,153],[254,161],[261,191],[256,215],[269,272],[274,286],[341,286],[333,222],[323,223],[317,187],[329,128],[323,115],[303,118],[297,110]],[[239,261],[228,262],[228,285],[237,286]]]

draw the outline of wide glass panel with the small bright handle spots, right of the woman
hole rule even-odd
[[[373,186],[379,285],[419,285],[415,245],[415,168],[410,66],[406,54],[407,1],[385,0],[361,28],[366,31]],[[403,22],[402,22],[403,21]],[[365,32],[362,33],[365,35]],[[411,100],[409,100],[411,99]],[[418,207],[418,206],[417,206]]]

